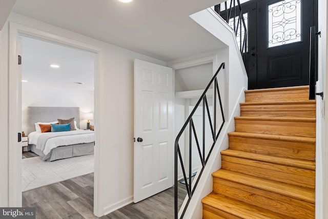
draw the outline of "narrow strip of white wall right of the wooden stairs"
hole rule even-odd
[[[328,95],[328,45],[327,45],[327,11],[325,0],[318,1],[318,29],[321,37],[318,37],[318,82],[316,91],[323,92],[323,101],[317,96],[317,140],[316,140],[316,218],[328,217],[328,123],[326,115],[328,105],[325,99]]]

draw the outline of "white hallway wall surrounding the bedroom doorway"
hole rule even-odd
[[[133,61],[135,58],[166,65],[158,59],[98,41],[96,39],[48,25],[35,19],[12,13],[9,21],[74,39],[101,49],[99,96],[99,209],[109,213],[133,200]],[[0,109],[2,124],[1,206],[8,206],[8,23],[2,30]]]

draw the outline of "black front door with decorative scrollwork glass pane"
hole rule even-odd
[[[315,26],[317,14],[314,4],[315,0],[257,1],[255,89],[309,85],[310,27]]]

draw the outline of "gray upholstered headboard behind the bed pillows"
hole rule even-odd
[[[77,128],[80,127],[79,107],[28,107],[27,108],[27,134],[35,131],[34,123],[54,122],[57,118],[75,117]]]

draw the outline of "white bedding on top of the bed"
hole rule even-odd
[[[84,144],[94,142],[94,132],[90,133],[89,130],[74,130],[70,131],[73,135],[66,135],[66,136],[58,136],[49,138],[46,142],[45,148],[43,153],[47,155],[50,153],[51,149],[59,147],[59,146],[66,146],[66,145],[76,145],[76,144]],[[75,133],[84,133],[84,134],[75,134]],[[42,150],[40,146],[37,145],[38,137],[45,133],[39,132],[31,132],[28,135],[29,144],[36,145],[36,149]]]

